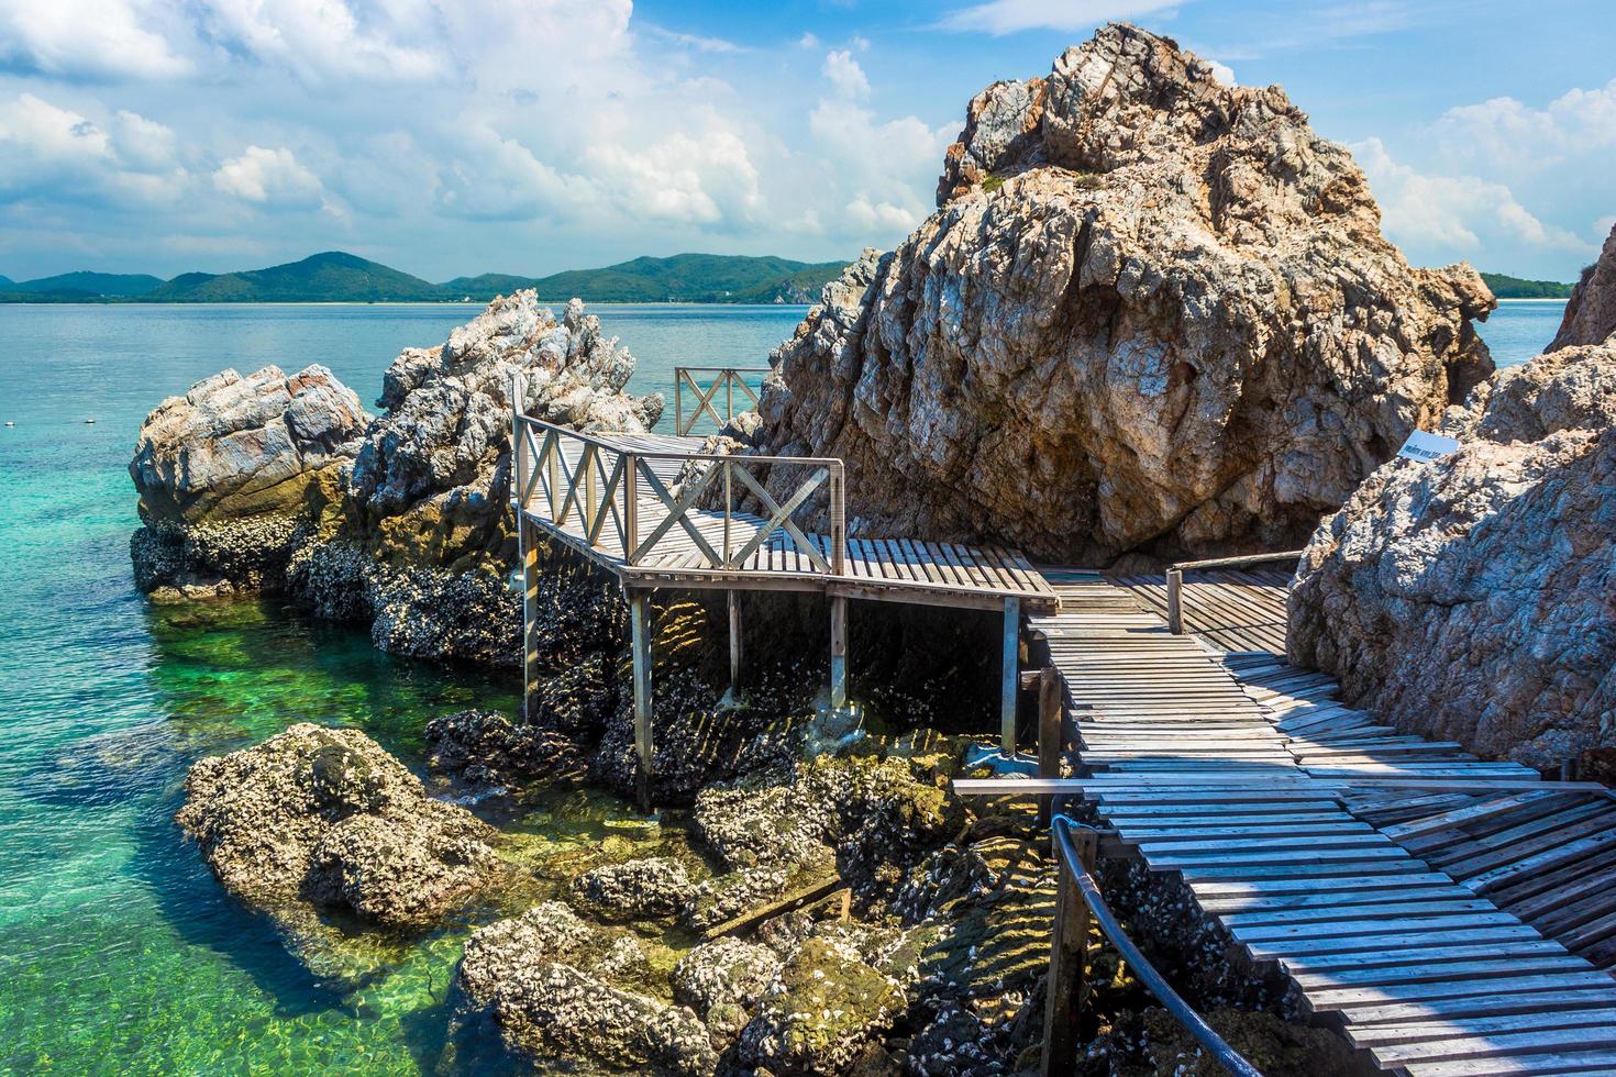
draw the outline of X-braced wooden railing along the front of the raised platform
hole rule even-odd
[[[512,389],[512,399],[520,400],[520,386]],[[582,434],[519,412],[511,434],[517,507],[609,555],[621,552],[629,565],[645,562],[679,533],[701,552],[705,564],[698,568],[739,572],[764,543],[784,533],[811,572],[847,573],[847,480],[840,460],[651,452],[611,434]],[[659,475],[654,465],[669,462],[679,467],[664,467]],[[776,499],[756,475],[766,468],[803,470],[806,476]],[[808,512],[821,489],[831,526],[816,543],[797,517]]]

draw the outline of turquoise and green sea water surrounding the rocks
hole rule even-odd
[[[1504,304],[1482,326],[1498,363],[1542,350],[1563,307]],[[464,927],[335,993],[171,819],[196,759],[296,722],[362,728],[419,767],[430,717],[511,709],[514,675],[393,659],[275,602],[149,606],[126,471],[147,412],[217,370],[325,363],[370,399],[402,347],[477,310],[0,305],[0,1072],[488,1071],[446,1038]],[[591,312],[638,358],[630,391],[671,404],[675,367],[763,367],[805,308]],[[535,812],[524,828],[556,856],[632,825],[598,794]]]

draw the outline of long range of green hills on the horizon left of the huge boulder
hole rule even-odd
[[[267,270],[181,273],[165,281],[145,273],[61,273],[32,281],[0,276],[6,304],[389,304],[477,302],[524,287],[545,302],[579,297],[600,304],[806,304],[845,262],[793,262],[774,257],[680,254],[633,258],[601,270],[551,276],[483,273],[443,284],[328,250]]]

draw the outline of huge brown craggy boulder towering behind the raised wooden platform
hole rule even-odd
[[[1107,26],[971,102],[937,213],[776,352],[756,441],[844,457],[866,531],[1293,543],[1487,376],[1492,308],[1409,268],[1283,90]]]

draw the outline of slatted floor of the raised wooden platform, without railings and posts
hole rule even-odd
[[[609,439],[624,452],[669,454],[645,457],[645,462],[675,497],[680,480],[688,480],[690,460],[684,457],[700,452],[703,446],[701,438],[669,434],[611,434]],[[569,468],[579,467],[583,446],[583,441],[562,442]],[[666,502],[650,483],[640,483],[635,501],[640,534],[656,533],[669,517]],[[708,551],[680,522],[630,565],[616,528],[600,528],[591,541],[582,512],[567,513],[558,525],[543,507],[525,510],[525,517],[633,586],[824,591],[858,599],[994,610],[1004,609],[1005,599],[1012,597],[1033,612],[1054,610],[1058,604],[1037,570],[1020,552],[1002,546],[848,538],[845,570],[835,576],[819,570],[789,533],[777,530],[742,565],[722,568],[713,565]],[[709,549],[719,552],[743,551],[768,523],[756,513],[737,512],[726,518],[726,513],[708,509],[690,509],[685,522]],[[827,536],[808,533],[805,538],[819,557],[831,559]]]

